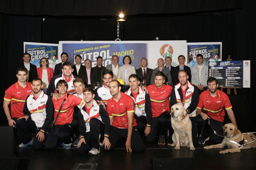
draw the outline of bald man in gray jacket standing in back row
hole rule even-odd
[[[155,84],[155,74],[158,71],[161,71],[164,73],[165,77],[167,78],[165,82],[172,82],[170,70],[167,67],[164,67],[164,59],[159,58],[157,60],[157,64],[158,64],[158,67],[156,67],[152,72],[151,81],[150,81],[151,85]]]

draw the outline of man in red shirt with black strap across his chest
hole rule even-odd
[[[60,114],[49,133],[49,136],[46,140],[45,148],[47,150],[52,150],[64,142],[64,149],[69,149],[72,144],[71,135],[74,133],[73,128],[71,127],[71,121],[73,120],[74,107],[77,105],[82,105],[84,99],[74,95],[68,95],[68,83],[65,80],[59,80],[56,84],[57,92],[59,96],[57,100],[52,97],[52,103],[54,106],[54,118],[57,116],[60,106],[64,99],[64,102]]]

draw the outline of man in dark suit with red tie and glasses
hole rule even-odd
[[[151,79],[153,69],[150,69],[147,67],[148,60],[146,58],[142,58],[140,60],[140,65],[141,65],[141,68],[136,69],[136,74],[138,75],[140,82],[146,83],[146,86],[151,85],[150,79]],[[144,74],[146,75],[144,76]]]

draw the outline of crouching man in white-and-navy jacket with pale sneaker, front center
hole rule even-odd
[[[110,145],[108,141],[110,120],[103,105],[99,105],[93,99],[95,96],[94,90],[88,87],[84,89],[83,93],[85,105],[78,112],[80,136],[77,148],[79,153],[97,155],[100,153],[99,141],[103,136],[103,144]]]

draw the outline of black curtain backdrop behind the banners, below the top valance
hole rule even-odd
[[[233,5],[236,4],[235,2]],[[208,11],[210,13],[171,14],[169,12],[169,14],[128,15],[126,21],[123,22],[123,40],[156,40],[156,37],[159,37],[159,40],[222,42],[222,60],[226,60],[228,55],[231,55],[232,60],[251,60],[252,63],[255,63],[256,60],[253,56],[256,47],[255,7],[256,1],[242,0],[241,9],[225,8],[229,10]],[[2,10],[2,7],[0,8]],[[17,13],[20,14],[20,12]],[[99,16],[101,13],[97,13],[97,15],[32,17],[0,13],[0,52],[2,56],[0,70],[4,77],[1,81],[1,103],[3,103],[5,89],[17,81],[16,67],[18,63],[22,62],[23,42],[58,44],[59,41],[79,41],[81,39],[84,41],[115,40],[117,38],[116,18],[109,15]],[[42,20],[43,17],[45,21]],[[106,20],[101,20],[101,18],[106,18]],[[256,83],[253,76],[255,72],[252,64],[251,88],[237,89],[238,95],[246,95],[249,101],[252,119],[247,119],[248,122],[244,122],[244,124],[250,124],[251,128],[249,129],[251,130],[256,130],[254,124],[256,122],[255,103],[253,102],[253,94],[256,93],[253,88]],[[231,94],[234,94],[234,90],[231,90]],[[241,107],[244,106],[241,105]],[[242,116],[248,113],[237,114]],[[2,124],[7,124],[2,107],[0,120]]]

